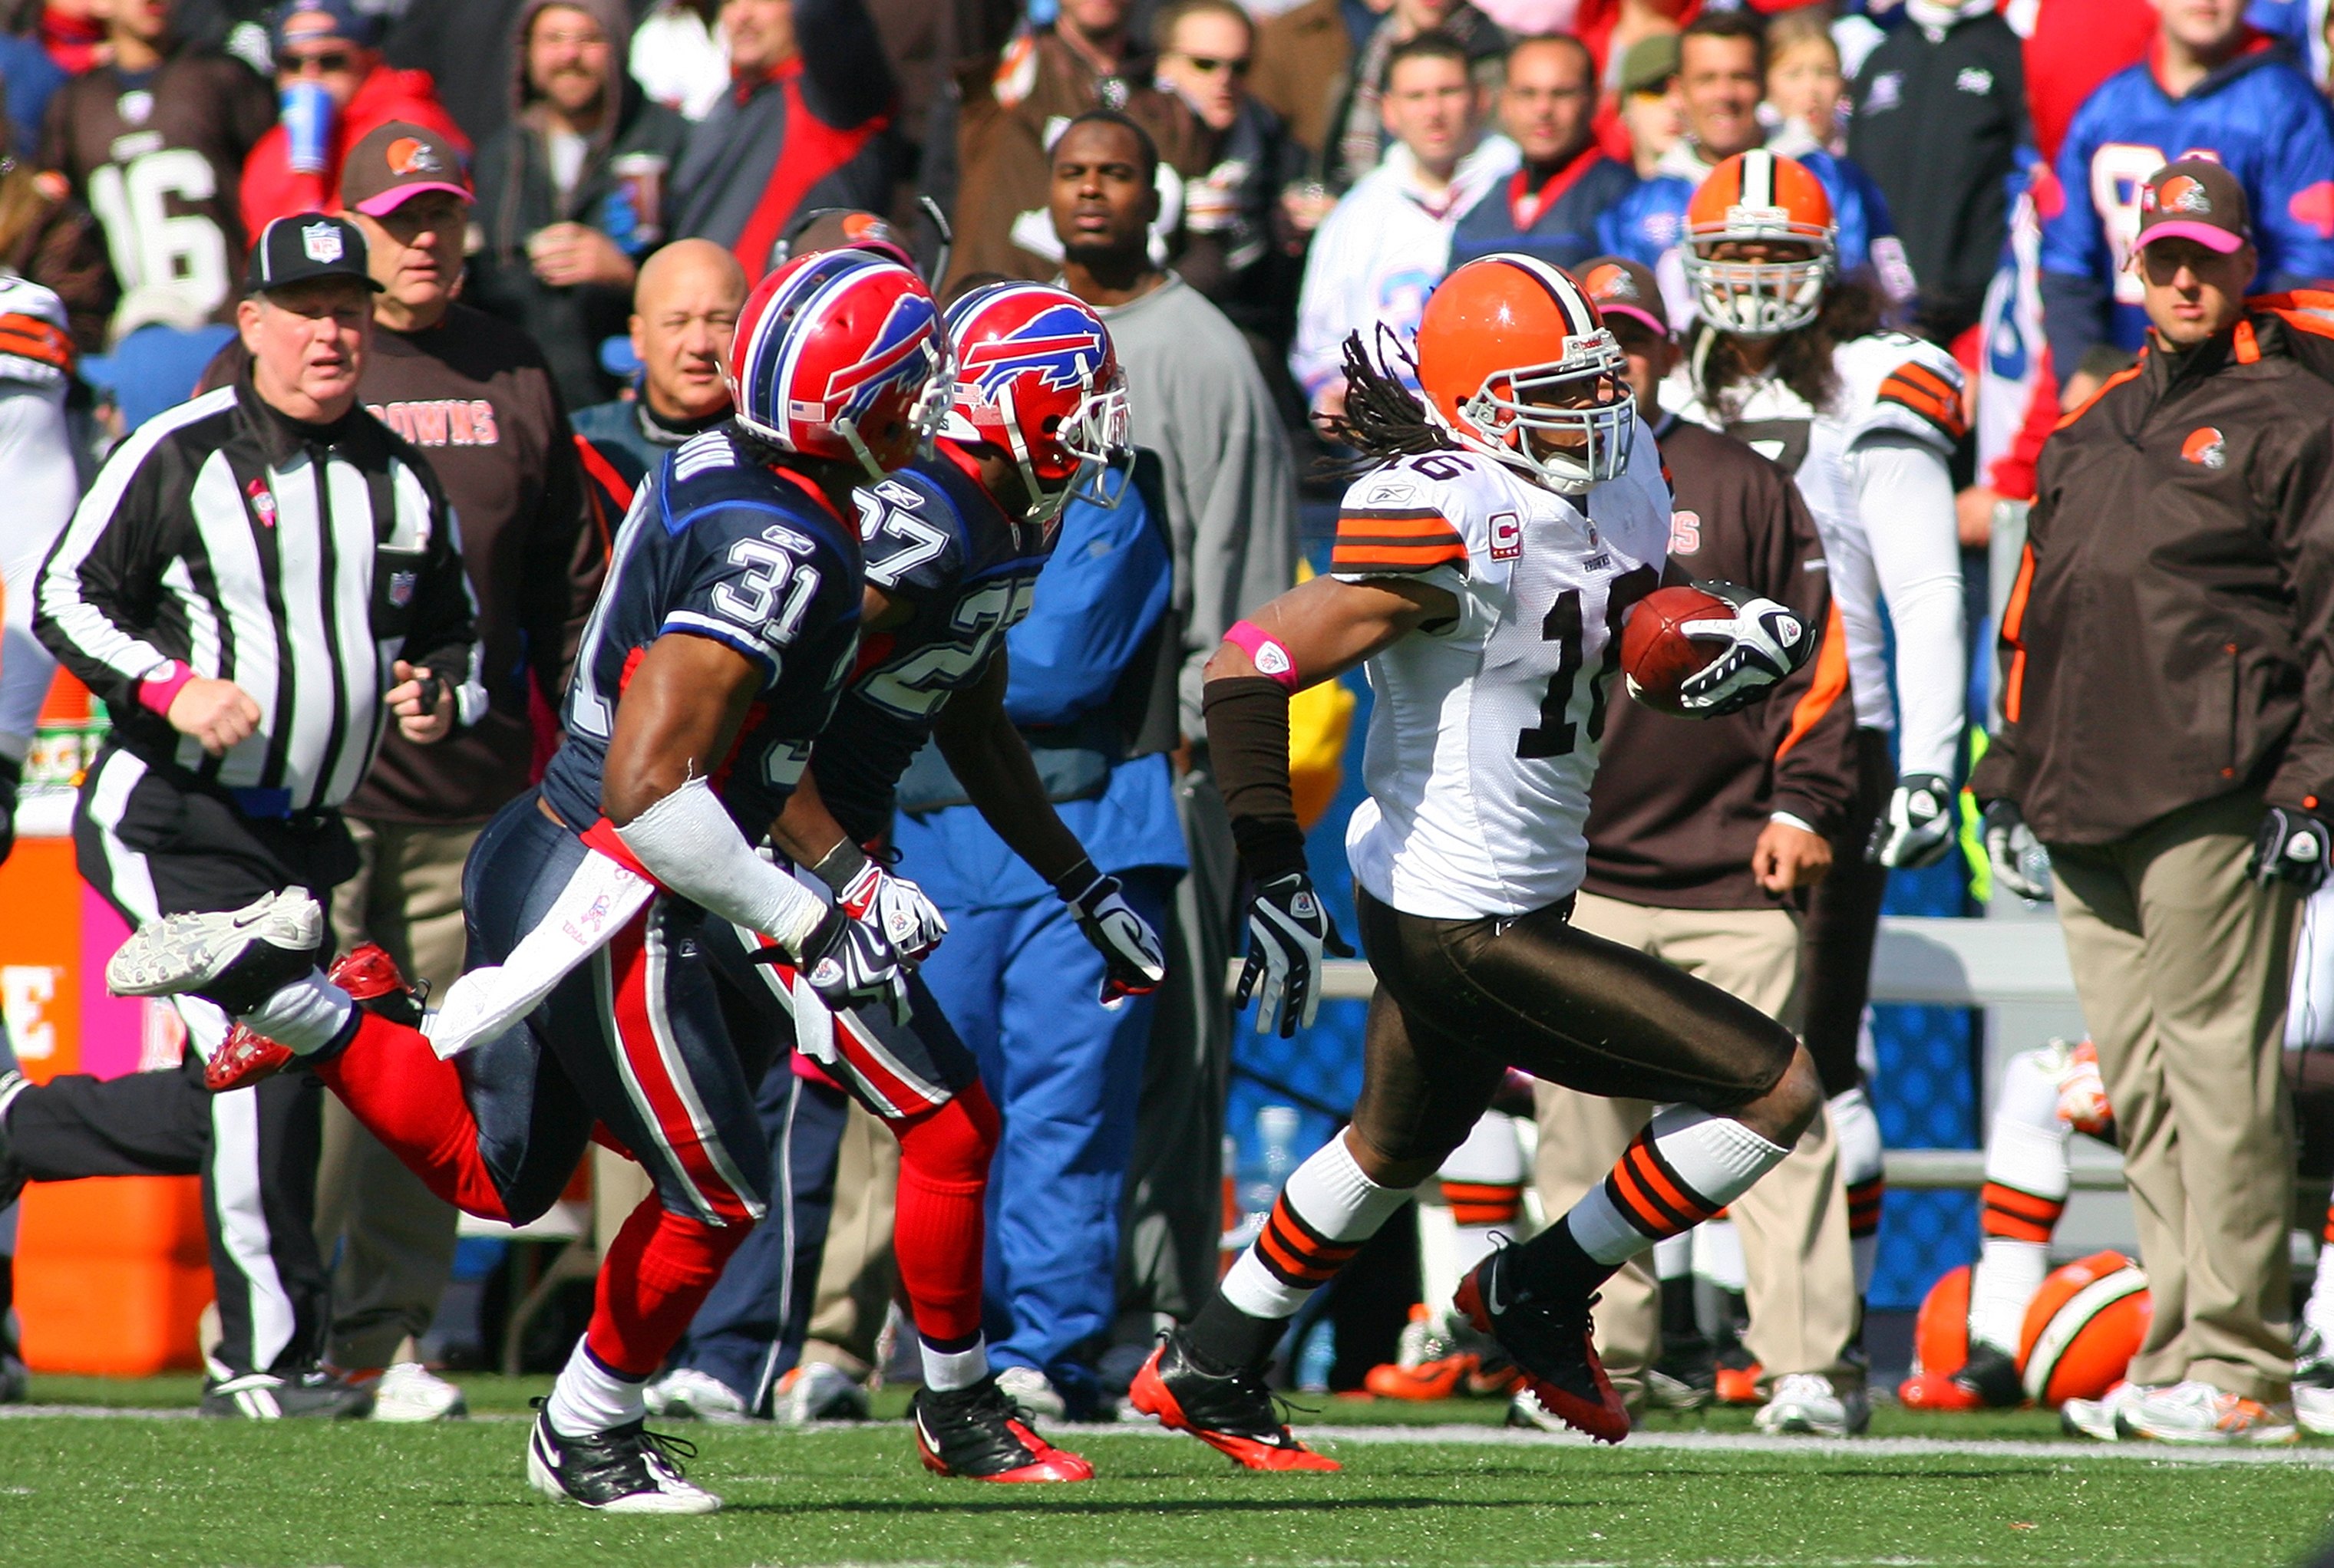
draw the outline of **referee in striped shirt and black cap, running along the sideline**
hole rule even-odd
[[[275,219],[245,287],[250,371],[124,441],[40,579],[35,632],[114,716],[82,784],[77,863],[133,926],[343,882],[357,852],[338,805],[387,716],[441,740],[455,686],[476,684],[453,513],[429,464],[357,406],[378,287],[364,236]],[[180,1015],[180,1073],[0,1087],[0,1188],[201,1171],[222,1330],[203,1412],[364,1414],[369,1395],[317,1367],[320,1087],[282,1073],[208,1094],[229,1020],[194,999]]]

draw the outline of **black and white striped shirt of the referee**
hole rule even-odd
[[[35,632],[149,765],[254,814],[334,807],[380,744],[397,658],[483,707],[474,604],[429,464],[362,408],[317,432],[238,385],[147,420],[82,499],[40,576]],[[140,705],[173,660],[259,705],[226,756]]]

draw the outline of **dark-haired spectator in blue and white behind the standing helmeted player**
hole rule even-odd
[[[1758,119],[1767,91],[1767,33],[1755,12],[1701,12],[1678,35],[1678,100],[1685,107],[1685,138],[1662,154],[1652,177],[1622,196],[1596,222],[1596,247],[1631,261],[1643,261],[1662,282],[1669,317],[1694,317],[1694,294],[1685,287],[1678,261],[1678,238],[1685,233],[1685,203],[1704,175],[1767,140]],[[1888,219],[1879,187],[1856,163],[1823,149],[1793,149],[1823,191],[1832,198],[1839,222],[1837,254],[1846,273],[1870,271],[1872,282],[1895,306],[1914,294],[1914,275],[1905,247]],[[2143,170],[2143,175],[2150,170]]]

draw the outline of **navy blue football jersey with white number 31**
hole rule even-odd
[[[607,586],[584,628],[544,800],[569,828],[600,819],[600,770],[616,702],[649,644],[712,637],[761,672],[714,789],[747,842],[794,793],[859,646],[859,537],[808,481],[777,474],[717,427],[675,448],[640,485]]]

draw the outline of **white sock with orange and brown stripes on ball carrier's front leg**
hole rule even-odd
[[[1734,1118],[1669,1106],[1622,1150],[1613,1174],[1571,1206],[1564,1230],[1596,1262],[1622,1265],[1708,1220],[1786,1153]]]

